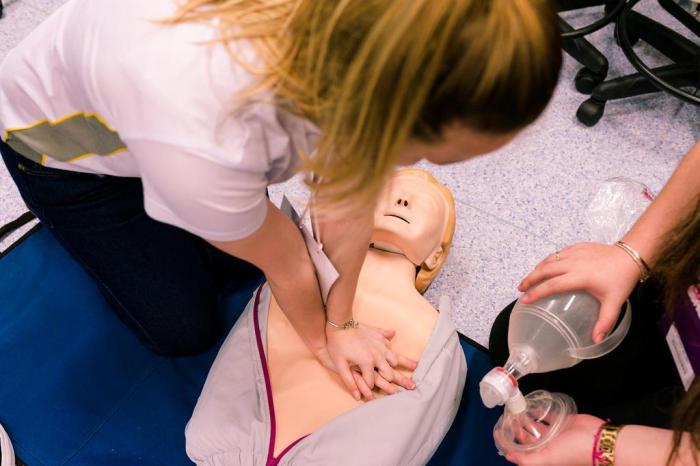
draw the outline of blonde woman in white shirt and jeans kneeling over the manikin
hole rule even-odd
[[[253,264],[356,398],[376,377],[411,388],[392,331],[352,320],[372,205],[396,165],[466,160],[531,123],[556,24],[546,0],[69,0],[0,68],[0,149],[154,351],[209,347]],[[325,309],[266,197],[298,171],[340,273]]]

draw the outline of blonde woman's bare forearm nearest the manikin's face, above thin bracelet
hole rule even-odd
[[[352,317],[357,279],[369,248],[373,221],[374,206],[367,206],[361,216],[320,222],[324,251],[340,274],[326,303],[328,319],[334,322],[347,322]]]

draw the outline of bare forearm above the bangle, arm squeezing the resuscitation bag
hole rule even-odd
[[[666,235],[690,213],[699,195],[700,143],[696,143],[623,240],[652,266],[666,242]]]

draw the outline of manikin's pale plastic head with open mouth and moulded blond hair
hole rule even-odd
[[[390,181],[374,212],[375,247],[403,253],[416,265],[432,269],[448,221],[447,202],[438,188],[416,175]]]

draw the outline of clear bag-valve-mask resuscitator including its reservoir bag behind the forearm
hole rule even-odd
[[[649,188],[636,181],[605,181],[587,210],[592,239],[612,243],[622,238],[653,198]],[[516,302],[508,331],[508,361],[492,369],[480,383],[486,406],[505,405],[494,427],[501,453],[542,448],[573,419],[576,404],[571,397],[544,390],[523,396],[518,379],[571,367],[614,350],[631,325],[630,303],[623,306],[614,330],[594,343],[592,332],[599,311],[598,300],[584,291],[560,293],[532,304]]]

